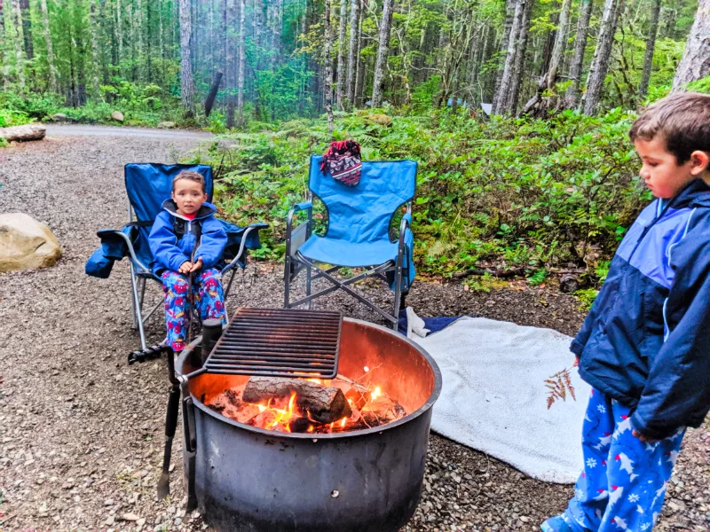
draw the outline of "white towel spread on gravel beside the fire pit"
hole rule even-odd
[[[577,400],[558,399],[548,410],[544,382],[572,368],[570,337],[483,317],[461,317],[425,338],[408,332],[437,361],[444,381],[432,430],[541,481],[577,479],[590,387],[575,368]]]

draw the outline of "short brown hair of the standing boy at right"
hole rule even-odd
[[[680,165],[690,153],[710,154],[710,94],[676,92],[649,106],[636,119],[628,137],[651,140],[662,135]]]

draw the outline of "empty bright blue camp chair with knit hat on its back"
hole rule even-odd
[[[371,161],[362,163],[362,176],[356,186],[335,181],[320,171],[321,156],[311,157],[308,200],[288,212],[286,221],[286,264],[284,267],[284,307],[308,304],[335,290],[343,290],[375,310],[397,330],[401,295],[414,281],[414,235],[412,199],[416,186],[413,160]],[[327,209],[327,231],[322,237],[312,234],[313,196]],[[399,223],[398,239],[390,239],[390,223],[399,208],[406,213]],[[306,211],[308,219],[293,229],[293,218]],[[326,264],[322,269],[316,263]],[[333,273],[341,268],[363,268],[359,275],[340,280]],[[301,270],[306,270],[305,297],[290,301],[290,285]],[[374,302],[353,290],[362,279],[383,278],[394,291],[394,313],[380,309]],[[312,293],[312,281],[324,278],[333,286]]]

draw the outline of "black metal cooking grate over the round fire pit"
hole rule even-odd
[[[239,309],[203,368],[228,375],[334,379],[342,324],[342,312]]]

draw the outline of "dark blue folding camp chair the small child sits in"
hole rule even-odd
[[[146,332],[144,325],[155,310],[162,307],[162,300],[144,315],[143,302],[146,293],[146,280],[150,279],[162,286],[160,278],[151,270],[153,255],[148,245],[148,235],[153,226],[155,216],[160,213],[163,201],[170,198],[172,180],[184,170],[200,172],[205,178],[208,201],[212,201],[214,183],[212,168],[206,165],[130,163],[124,168],[126,192],[128,194],[129,223],[122,229],[105,229],[97,232],[101,239],[101,247],[91,255],[86,262],[85,271],[88,275],[98,278],[108,278],[114,261],[123,257],[130,258],[130,285],[132,291],[133,329],[138,329],[141,348],[146,349]],[[259,241],[260,229],[268,227],[266,223],[252,223],[247,227],[239,227],[233,223],[220,220],[227,233],[227,246],[223,262],[217,264],[224,278],[232,272],[225,286],[225,300],[229,295],[234,280],[236,267],[244,269],[247,265],[247,250],[261,247]],[[226,313],[226,307],[225,307]]]

